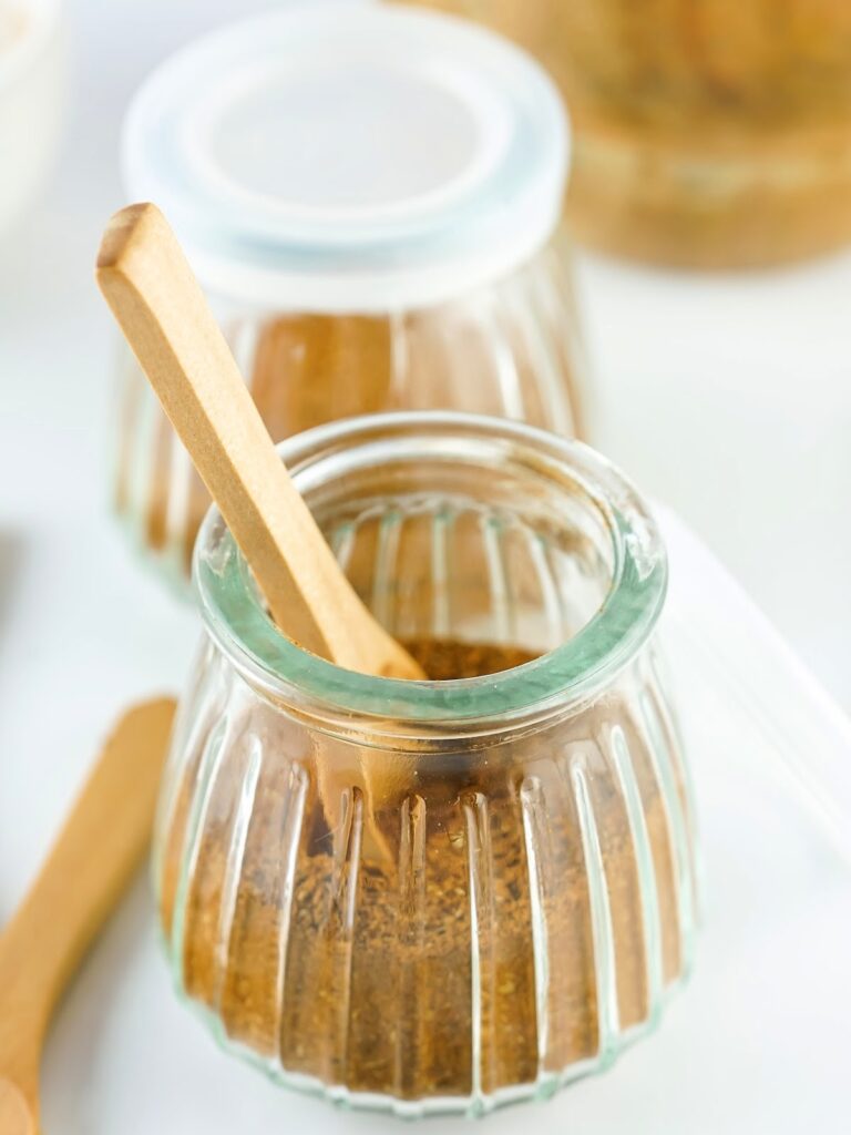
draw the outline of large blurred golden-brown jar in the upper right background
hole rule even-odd
[[[429,2],[429,0],[427,0]],[[549,69],[575,128],[575,235],[641,260],[765,266],[851,238],[843,0],[432,0]]]

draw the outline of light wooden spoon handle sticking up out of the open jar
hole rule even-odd
[[[351,670],[423,676],[340,571],[154,205],[112,218],[98,283],[284,633]]]

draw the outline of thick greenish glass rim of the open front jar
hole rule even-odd
[[[404,461],[413,446],[436,462],[446,454],[463,455],[485,470],[491,462],[511,461],[529,476],[581,491],[606,533],[610,581],[598,609],[573,637],[531,662],[481,678],[404,681],[344,670],[280,633],[212,506],[195,545],[193,582],[213,641],[253,687],[275,700],[319,716],[381,720],[390,732],[410,733],[418,723],[471,721],[498,728],[587,703],[635,656],[664,604],[667,560],[641,497],[610,462],[582,443],[474,414],[353,418],[292,437],[278,452],[311,501],[330,476]]]

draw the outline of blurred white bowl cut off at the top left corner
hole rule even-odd
[[[50,169],[64,92],[59,0],[0,0],[0,232]]]

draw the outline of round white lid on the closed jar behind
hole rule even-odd
[[[561,213],[567,125],[526,56],[416,8],[289,6],[162,64],[124,134],[209,291],[396,311],[525,263]]]

